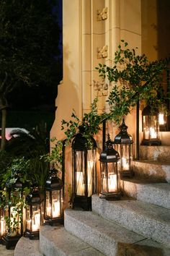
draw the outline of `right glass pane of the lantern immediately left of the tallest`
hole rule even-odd
[[[61,190],[52,191],[52,218],[61,216],[60,194]]]

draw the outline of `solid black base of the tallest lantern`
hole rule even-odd
[[[76,195],[73,198],[73,208],[83,208],[84,210],[91,210],[91,197]]]

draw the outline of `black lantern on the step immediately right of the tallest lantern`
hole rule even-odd
[[[120,177],[117,172],[117,162],[120,160],[119,153],[113,148],[113,142],[105,142],[105,150],[100,154],[101,192],[100,198],[106,200],[120,199]]]

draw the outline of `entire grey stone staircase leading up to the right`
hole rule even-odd
[[[93,195],[91,212],[66,209],[64,226],[42,226],[40,242],[22,237],[14,255],[169,256],[169,156],[170,147],[140,146],[121,200]]]

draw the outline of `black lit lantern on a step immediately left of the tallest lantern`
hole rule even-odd
[[[53,167],[45,182],[45,223],[55,226],[63,223],[63,182]]]

